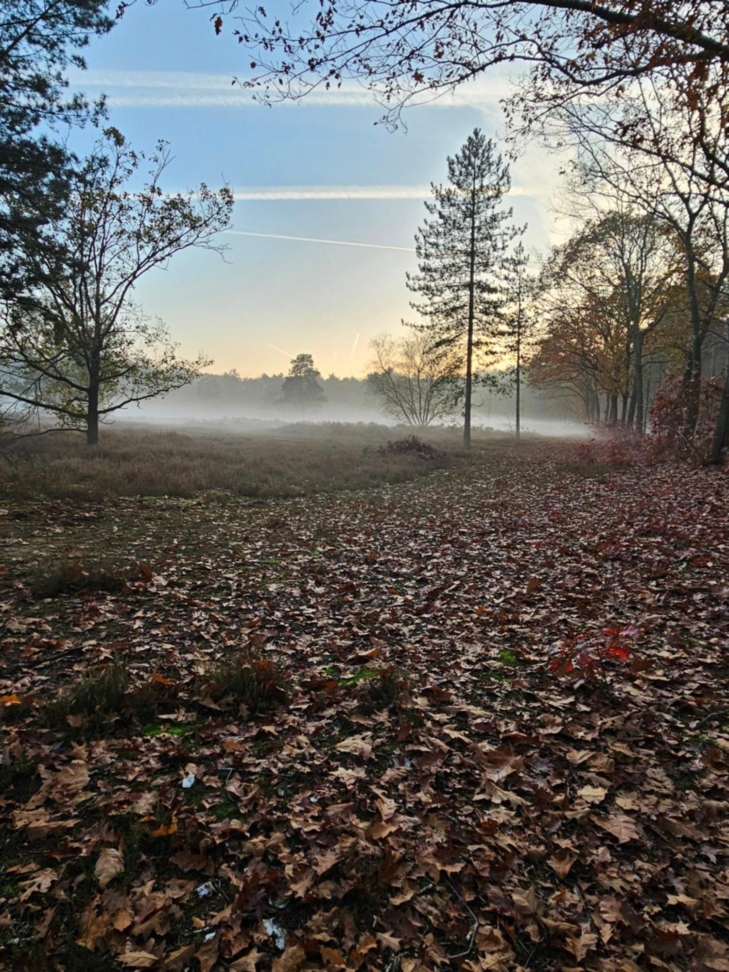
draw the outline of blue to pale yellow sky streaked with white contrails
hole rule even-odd
[[[86,60],[72,85],[105,93],[110,121],[135,148],[170,143],[163,188],[226,183],[235,193],[225,258],[187,251],[135,294],[183,355],[203,352],[217,372],[278,373],[306,352],[324,374],[364,375],[372,337],[412,319],[405,273],[446,156],[476,126],[504,132],[508,79],[493,74],[408,111],[406,131],[377,124],[381,109],[356,85],[263,106],[231,84],[246,67],[234,39],[216,37],[210,11],[181,0],[130,7]],[[514,221],[528,223],[536,250],[554,223],[559,162],[533,146],[511,169]]]

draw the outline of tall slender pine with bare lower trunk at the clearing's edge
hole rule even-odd
[[[411,307],[424,319],[435,347],[465,352],[464,445],[470,447],[474,355],[483,360],[498,336],[502,276],[509,244],[521,230],[502,206],[511,182],[508,165],[480,129],[448,157],[447,186],[433,186],[432,219],[415,237],[417,274],[407,286],[421,296]]]

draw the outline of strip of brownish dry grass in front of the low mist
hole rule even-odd
[[[193,497],[209,490],[295,497],[365,489],[405,482],[437,465],[413,454],[377,454],[378,446],[403,433],[329,424],[265,434],[114,429],[104,432],[95,449],[75,434],[6,441],[0,446],[0,497]],[[434,430],[427,437],[451,454],[459,451],[455,430]]]

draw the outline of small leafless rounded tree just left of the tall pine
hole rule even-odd
[[[422,333],[399,340],[383,335],[370,346],[374,361],[367,385],[388,415],[423,427],[459,410],[464,397],[459,355],[434,347]]]

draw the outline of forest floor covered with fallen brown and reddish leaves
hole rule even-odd
[[[2,503],[0,967],[726,972],[728,487]]]

